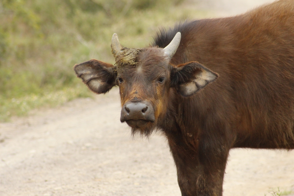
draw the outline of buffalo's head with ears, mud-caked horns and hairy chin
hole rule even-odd
[[[121,122],[127,122],[133,133],[148,135],[170,115],[170,97],[191,96],[217,78],[216,73],[198,62],[171,64],[180,41],[178,32],[165,48],[134,49],[123,47],[114,34],[111,48],[116,66],[92,59],[76,64],[74,70],[97,94],[118,85]]]

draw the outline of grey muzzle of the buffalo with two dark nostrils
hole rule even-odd
[[[128,102],[124,104],[121,111],[120,121],[127,120],[146,120],[155,121],[154,110],[147,102]]]

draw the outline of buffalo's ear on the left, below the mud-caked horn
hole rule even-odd
[[[114,66],[96,59],[76,64],[74,71],[90,90],[97,94],[108,92],[115,85]]]

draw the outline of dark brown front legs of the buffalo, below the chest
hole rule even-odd
[[[169,138],[182,196],[221,196],[228,150],[209,143],[195,148],[180,140]]]

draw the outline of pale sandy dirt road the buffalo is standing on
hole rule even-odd
[[[219,16],[266,0],[197,3]],[[0,196],[181,195],[166,139],[132,139],[117,89],[0,124]],[[224,196],[294,190],[294,151],[230,151]],[[293,193],[292,193],[293,195]]]

